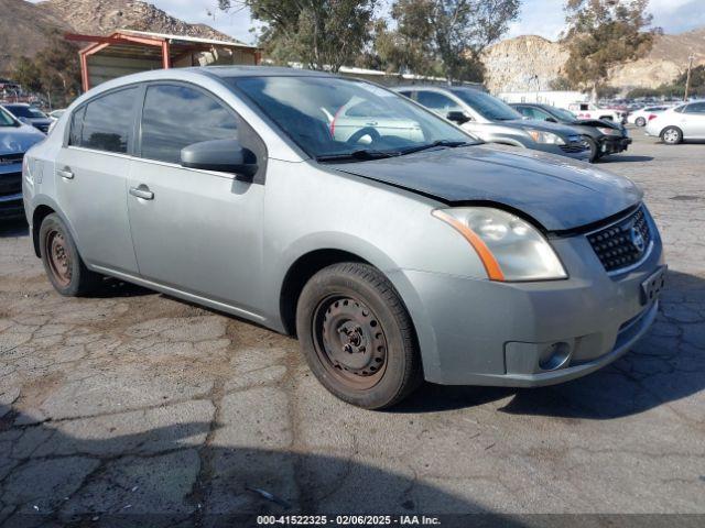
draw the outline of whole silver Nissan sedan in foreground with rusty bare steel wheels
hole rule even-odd
[[[332,130],[352,107],[367,119]],[[319,382],[367,408],[424,378],[590,373],[648,330],[665,273],[630,180],[481,144],[386,88],[313,72],[105,82],[28,153],[23,190],[59,294],[111,276],[297,336]]]

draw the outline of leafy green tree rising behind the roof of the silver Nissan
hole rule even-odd
[[[376,0],[219,0],[224,11],[249,8],[263,28],[259,43],[278,63],[337,72],[354,64],[371,38]]]

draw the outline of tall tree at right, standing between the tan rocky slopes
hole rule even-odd
[[[567,0],[568,80],[592,90],[593,98],[612,67],[643,56],[658,28],[648,29],[649,0]]]

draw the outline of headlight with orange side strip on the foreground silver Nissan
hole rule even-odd
[[[567,277],[546,239],[514,215],[489,207],[459,207],[436,209],[433,216],[465,237],[492,280]]]

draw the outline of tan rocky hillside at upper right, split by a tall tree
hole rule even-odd
[[[619,88],[657,88],[685,70],[691,53],[694,65],[705,64],[705,29],[657,36],[647,56],[615,68],[609,84]],[[551,81],[562,75],[567,59],[562,42],[535,35],[508,38],[484,54],[486,84],[492,92],[547,90]]]

